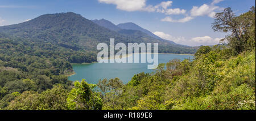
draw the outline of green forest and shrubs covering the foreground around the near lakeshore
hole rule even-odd
[[[1,38],[0,109],[255,110],[255,7],[239,16],[225,8],[212,28],[227,32],[225,44],[201,46],[195,58],[159,64],[154,73],[134,75],[127,84],[118,78],[72,83],[65,55],[73,50]],[[52,53],[34,51],[37,47]]]

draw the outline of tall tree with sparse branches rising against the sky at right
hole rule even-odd
[[[212,28],[214,31],[231,32],[225,40],[229,42],[236,54],[248,48],[246,47],[248,44],[253,49],[255,47],[255,35],[253,35],[255,34],[255,7],[251,7],[250,11],[240,16],[236,16],[230,7],[225,8],[223,12],[214,16]]]

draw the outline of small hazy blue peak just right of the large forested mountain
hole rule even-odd
[[[119,31],[121,28],[117,27],[115,24],[113,24],[112,22],[105,20],[105,19],[101,19],[101,20],[92,20],[94,23],[100,25],[101,27],[105,27],[108,28],[112,31]]]

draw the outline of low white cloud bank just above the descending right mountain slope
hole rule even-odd
[[[222,38],[212,38],[209,36],[193,37],[191,39],[186,39],[185,37],[174,37],[164,32],[154,32],[154,34],[165,40],[174,41],[177,44],[188,45],[188,46],[217,45],[222,39]]]

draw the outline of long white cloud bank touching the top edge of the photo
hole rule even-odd
[[[210,5],[203,4],[201,6],[193,6],[189,13],[187,10],[181,8],[170,8],[172,6],[172,1],[164,1],[158,5],[146,5],[147,0],[98,0],[101,3],[113,4],[117,6],[117,9],[124,11],[147,11],[147,12],[159,12],[166,15],[181,15],[185,17],[182,19],[174,20],[170,16],[162,19],[161,21],[168,21],[174,23],[185,23],[190,21],[197,16],[209,16],[214,18],[214,15],[218,10],[222,10],[215,4],[224,0],[213,0]]]

